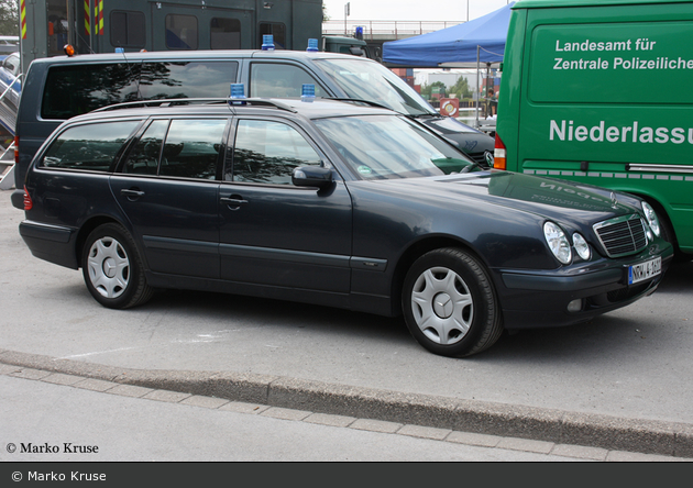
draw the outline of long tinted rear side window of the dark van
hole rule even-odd
[[[54,66],[46,77],[41,117],[65,120],[138,100],[228,97],[237,73],[237,62]]]

